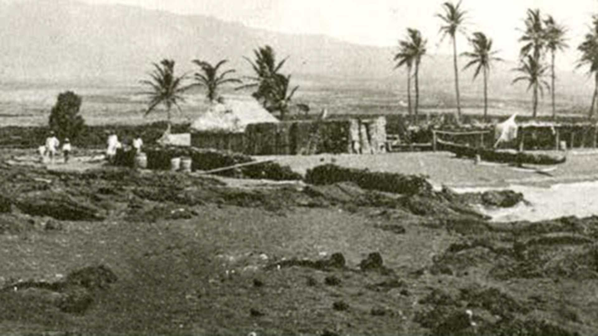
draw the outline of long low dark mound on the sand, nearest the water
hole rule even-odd
[[[432,191],[432,185],[424,176],[370,172],[367,169],[343,168],[335,164],[324,164],[307,170],[306,182],[315,185],[354,182],[364,189],[409,195]]]

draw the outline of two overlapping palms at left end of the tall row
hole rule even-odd
[[[419,65],[422,62],[422,56],[426,54],[426,44],[428,41],[422,38],[422,33],[417,29],[408,28],[407,36],[403,41],[399,41],[399,52],[395,55],[396,68],[407,66],[407,99],[409,115],[411,116],[411,70],[415,66],[415,114],[419,108]]]

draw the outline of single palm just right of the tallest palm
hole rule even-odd
[[[492,62],[502,59],[495,57],[498,51],[492,50],[492,39],[487,38],[484,33],[475,32],[474,38],[470,39],[469,42],[474,50],[462,54],[471,59],[463,70],[477,65],[474,72],[474,80],[478,77],[480,71],[484,74],[484,119],[486,119],[488,116],[488,76],[490,74],[490,67],[492,66]]]

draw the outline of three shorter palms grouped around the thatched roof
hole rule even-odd
[[[149,99],[145,114],[154,111],[158,105],[163,105],[170,125],[172,108],[175,107],[182,112],[179,103],[184,102],[183,93],[189,88],[205,89],[207,99],[213,103],[221,99],[219,91],[223,85],[239,84],[236,90],[255,88],[252,96],[268,111],[279,112],[280,117],[284,119],[291,107],[291,99],[299,88],[298,86],[290,88],[291,75],[280,73],[286,59],[276,62],[274,50],[269,45],[254,50],[254,55],[255,60],[245,57],[255,71],[255,76],[246,78],[249,81],[246,84],[243,84],[239,78],[231,77],[236,72],[234,69],[221,71],[221,67],[228,62],[227,60],[221,60],[216,65],[205,60],[193,60],[199,71],[194,74],[194,81],[191,84],[185,84],[188,80],[187,74],[175,75],[174,60],[164,59],[159,64],[153,63],[154,70],[149,73],[150,79],[141,81],[149,88],[145,92]],[[306,108],[306,105],[298,106],[302,109]]]

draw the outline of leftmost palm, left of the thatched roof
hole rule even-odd
[[[154,111],[154,108],[160,104],[166,108],[168,127],[171,126],[171,115],[170,109],[172,106],[176,106],[179,112],[181,106],[179,102],[184,102],[182,93],[187,90],[187,86],[183,86],[183,81],[187,78],[185,75],[175,76],[175,61],[164,59],[160,62],[160,65],[153,63],[154,71],[149,73],[151,80],[143,80],[142,84],[148,85],[150,90],[145,92],[149,97],[148,109],[145,111],[145,115]]]

